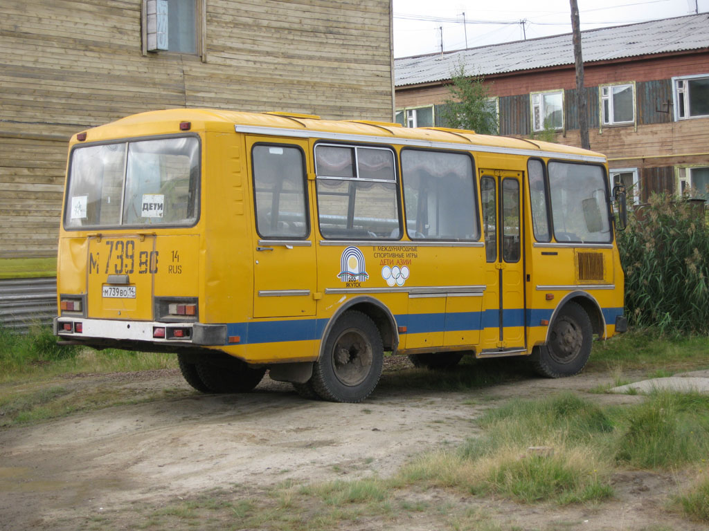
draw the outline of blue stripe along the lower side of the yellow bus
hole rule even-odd
[[[623,315],[623,308],[603,308],[606,324],[615,324],[615,317]],[[552,317],[551,309],[506,309],[503,311],[505,328],[515,326],[540,326],[542,319]],[[500,311],[454,312],[451,314],[396,315],[398,326],[406,326],[406,333],[432,333],[445,331],[476,331],[497,328]],[[227,336],[239,336],[240,345],[250,343],[276,343],[279,341],[312,341],[323,337],[329,319],[298,319],[227,324]]]

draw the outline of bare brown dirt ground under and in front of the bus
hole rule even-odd
[[[510,397],[588,392],[610,381],[598,373],[559,380],[525,375],[485,389],[441,392],[402,390],[388,385],[389,378],[363,404],[333,404],[302,399],[268,377],[255,392],[239,395],[193,392],[177,370],[62,379],[65,387],[125,387],[136,396],[180,392],[1,430],[0,529],[82,529],[92,516],[122,510],[125,519],[112,518],[111,526],[133,528],[128,513],[136,501],[158,507],[235,484],[265,489],[286,479],[386,477],[420,452],[474,436],[471,421]],[[616,404],[640,400],[586,396]],[[623,472],[613,479],[613,501],[566,508],[445,491],[431,496],[484,508],[502,529],[703,530],[665,509],[681,481],[677,474]],[[440,529],[436,518],[423,513],[406,525],[376,528]]]

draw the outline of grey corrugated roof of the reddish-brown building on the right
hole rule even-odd
[[[584,63],[709,47],[709,14],[581,32]],[[571,33],[394,60],[396,86],[450,79],[459,65],[489,76],[574,64]]]

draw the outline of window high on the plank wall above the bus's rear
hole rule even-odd
[[[143,0],[143,55],[203,55],[205,0]]]

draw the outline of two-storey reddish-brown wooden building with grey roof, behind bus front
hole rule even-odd
[[[709,198],[709,15],[582,33],[591,149],[635,202],[690,188]],[[397,119],[445,126],[440,105],[463,64],[484,76],[499,133],[580,146],[571,34],[395,59]]]

